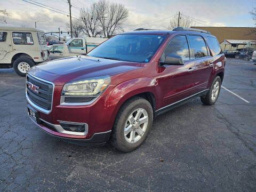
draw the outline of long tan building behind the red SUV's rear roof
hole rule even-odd
[[[225,39],[256,40],[256,27],[191,27],[210,31],[219,43]],[[253,33],[254,31],[254,33]]]

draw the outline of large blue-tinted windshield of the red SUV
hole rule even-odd
[[[87,55],[130,62],[149,62],[166,35],[117,35],[95,47]]]

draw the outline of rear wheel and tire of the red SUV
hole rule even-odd
[[[218,89],[217,86],[218,85]],[[216,88],[216,89],[215,89]],[[205,105],[213,105],[220,94],[220,88],[221,88],[221,79],[219,76],[216,76],[213,81],[212,81],[212,85],[210,87],[209,92],[206,94],[205,97],[201,97],[201,101],[205,104]],[[213,93],[214,92],[214,93]],[[217,93],[216,93],[217,92]],[[213,95],[214,97],[213,97]]]

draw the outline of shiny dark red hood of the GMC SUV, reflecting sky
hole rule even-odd
[[[85,78],[113,76],[125,71],[140,68],[140,63],[94,58],[85,55],[44,62],[29,70],[29,74],[54,82],[65,84]]]

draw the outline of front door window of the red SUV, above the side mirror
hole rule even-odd
[[[166,46],[165,51],[161,57],[161,61],[169,55],[178,55],[184,61],[189,60],[188,42],[186,36],[178,36],[171,39],[170,43]]]

